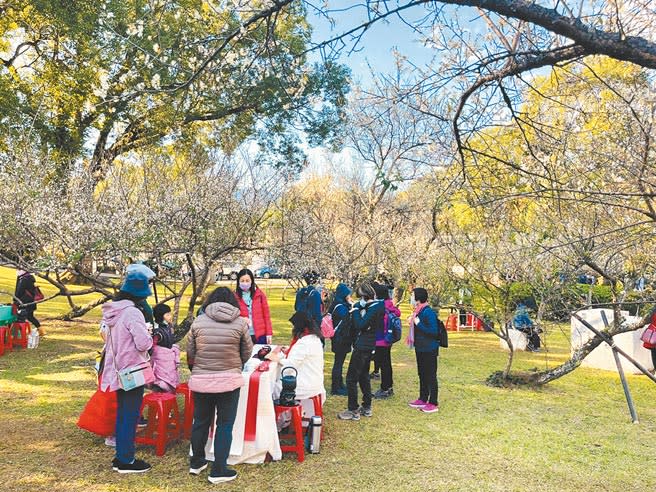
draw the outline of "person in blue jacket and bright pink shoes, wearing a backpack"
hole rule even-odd
[[[424,413],[439,410],[437,401],[437,357],[440,350],[437,314],[428,305],[428,291],[413,289],[414,311],[409,318],[410,331],[406,343],[415,349],[419,375],[419,398],[408,403]]]

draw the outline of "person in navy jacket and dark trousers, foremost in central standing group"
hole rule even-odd
[[[369,283],[357,290],[360,301],[352,308],[353,353],[346,372],[348,408],[337,414],[342,420],[360,420],[360,416],[371,417],[371,380],[369,365],[376,346],[376,331],[382,329],[385,317],[385,304],[376,301],[376,292]],[[362,391],[362,405],[358,404],[358,385]]]

